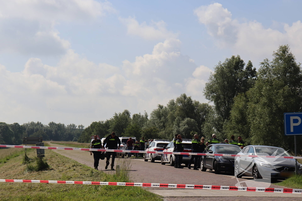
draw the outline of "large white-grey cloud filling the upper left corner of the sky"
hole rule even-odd
[[[55,25],[84,22],[115,12],[108,2],[95,0],[0,1],[0,53],[62,55],[70,43]]]

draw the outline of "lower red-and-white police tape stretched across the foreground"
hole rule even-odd
[[[112,186],[164,187],[164,188],[186,188],[186,189],[206,189],[206,190],[238,190],[238,191],[253,191],[253,192],[302,194],[302,189],[292,189],[292,188],[236,187],[236,186],[213,186],[213,185],[194,185],[194,184],[156,184],[156,183],[130,183],[130,182],[54,181],[54,180],[22,180],[22,179],[0,179],[0,182],[47,183],[47,184],[92,184],[92,185],[112,185]]]

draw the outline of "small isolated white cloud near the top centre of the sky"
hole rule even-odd
[[[119,18],[127,27],[127,33],[133,36],[140,36],[148,40],[176,38],[178,34],[168,31],[164,21],[154,22],[147,25],[146,22],[139,24],[135,17]]]

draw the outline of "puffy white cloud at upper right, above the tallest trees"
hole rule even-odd
[[[201,24],[207,27],[210,36],[216,39],[217,46],[231,48],[233,53],[249,60],[259,61],[271,56],[279,45],[288,44],[296,57],[302,56],[302,23],[300,20],[291,26],[284,24],[283,31],[264,28],[260,22],[239,23],[232,14],[219,3],[201,6],[194,10]],[[273,27],[275,27],[274,22]]]

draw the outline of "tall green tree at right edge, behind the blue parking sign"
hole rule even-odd
[[[302,71],[288,45],[279,46],[272,61],[265,59],[261,63],[258,79],[247,98],[252,143],[282,143],[285,149],[292,148],[293,139],[284,136],[283,114],[302,111]]]

